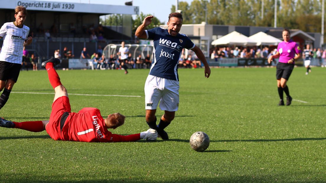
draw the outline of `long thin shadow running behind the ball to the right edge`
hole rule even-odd
[[[288,139],[234,139],[234,140],[210,140],[210,142],[278,142],[278,141],[304,141],[304,140],[326,140],[326,138],[288,138]],[[169,141],[187,142],[184,139],[169,139]]]

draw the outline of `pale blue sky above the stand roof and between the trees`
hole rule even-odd
[[[125,2],[131,0],[43,0],[52,2],[71,2],[71,3],[91,3],[105,5],[125,5]],[[193,0],[186,1],[190,5]],[[180,0],[179,0],[180,2]],[[144,14],[152,14],[161,22],[167,22],[172,5],[176,4],[176,0],[133,0],[133,6],[139,7],[139,12]]]

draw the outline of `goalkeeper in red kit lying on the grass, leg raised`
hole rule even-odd
[[[108,128],[117,128],[124,124],[125,116],[120,113],[110,114],[103,119],[97,108],[86,107],[78,113],[71,112],[66,88],[61,84],[60,77],[54,69],[59,59],[52,58],[42,63],[50,83],[55,91],[50,120],[13,122],[0,118],[0,126],[19,128],[31,132],[46,130],[54,140],[80,142],[129,142],[140,139],[156,140],[157,132],[148,129],[146,132],[132,135],[112,134]]]

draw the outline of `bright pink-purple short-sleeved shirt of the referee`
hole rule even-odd
[[[299,54],[301,52],[301,49],[296,42],[289,40],[289,42],[283,41],[279,43],[277,51],[280,53],[278,62],[288,63],[291,58],[294,58],[295,53]]]

